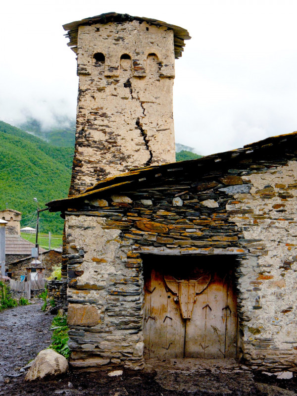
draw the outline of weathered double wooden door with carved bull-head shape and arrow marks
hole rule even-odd
[[[146,357],[236,357],[236,305],[231,268],[152,265],[145,277]]]

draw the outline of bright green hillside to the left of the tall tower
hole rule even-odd
[[[73,148],[55,147],[0,121],[0,209],[22,212],[21,226],[35,227],[34,212],[52,199],[65,198],[71,177]],[[41,232],[61,233],[58,213],[41,213]]]

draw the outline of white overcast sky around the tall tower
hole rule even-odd
[[[76,60],[62,24],[109,11],[189,30],[176,60],[176,142],[210,154],[297,130],[297,0],[5,1],[0,119],[74,118]]]

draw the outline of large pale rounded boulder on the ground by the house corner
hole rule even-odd
[[[53,349],[44,349],[38,353],[30,367],[25,381],[42,379],[48,375],[59,375],[68,370],[67,359]]]

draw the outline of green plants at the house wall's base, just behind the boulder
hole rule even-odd
[[[52,343],[49,348],[55,350],[61,355],[65,356],[66,359],[70,356],[70,350],[68,347],[68,326],[67,326],[67,315],[57,315],[51,322],[49,330],[53,330],[51,340]]]

